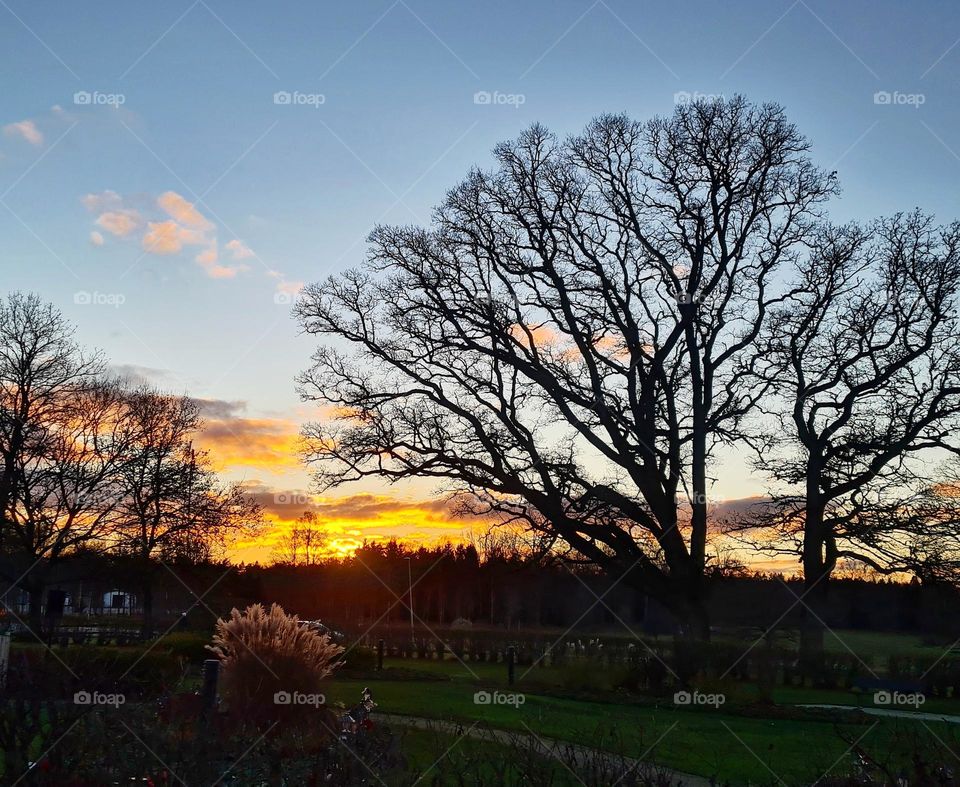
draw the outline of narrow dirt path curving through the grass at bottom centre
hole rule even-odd
[[[460,722],[443,721],[439,719],[425,719],[420,716],[404,716],[397,713],[377,713],[377,716],[383,718],[386,722],[397,724],[404,727],[414,727],[423,730],[435,730],[449,735],[466,735],[469,738],[479,740],[495,741],[509,745],[516,738],[534,738],[540,744],[544,756],[553,757],[556,760],[565,762],[590,762],[595,761],[597,757],[607,759],[610,767],[621,768],[626,773],[637,770],[642,772],[644,769],[663,774],[670,778],[671,787],[711,787],[709,779],[702,776],[694,776],[689,773],[670,770],[669,768],[660,768],[651,763],[642,762],[630,757],[619,757],[610,752],[600,749],[593,749],[589,746],[570,743],[568,741],[558,741],[553,738],[544,738],[533,733],[508,732],[507,730],[495,729],[492,727],[480,727],[475,724],[469,726]]]

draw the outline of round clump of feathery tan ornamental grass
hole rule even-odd
[[[316,717],[324,704],[320,685],[343,653],[328,634],[301,626],[279,604],[269,612],[260,604],[234,609],[229,620],[217,621],[208,647],[223,665],[229,711],[256,726]]]

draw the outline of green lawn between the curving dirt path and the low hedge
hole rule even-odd
[[[849,743],[861,736],[860,745],[883,756],[909,756],[915,746],[911,736],[915,734],[939,746],[933,733],[952,751],[960,752],[960,728],[942,723],[924,725],[912,720],[855,716],[844,718],[838,725],[829,712],[782,706],[761,709],[748,704],[713,710],[677,708],[670,698],[659,703],[625,695],[588,699],[569,696],[567,690],[557,688],[557,671],[550,669],[535,670],[511,689],[525,693],[525,702],[519,707],[477,705],[474,692],[481,688],[508,690],[503,665],[470,664],[479,680],[455,661],[393,660],[386,666],[382,678],[337,678],[329,686],[329,701],[351,703],[361,688],[369,685],[380,710],[386,713],[452,719],[464,725],[479,723],[505,730],[529,729],[538,735],[607,748],[734,784],[777,779],[787,784],[809,784],[828,771],[849,773],[853,762],[847,753]],[[549,673],[554,673],[553,686]],[[776,698],[788,703],[857,701],[849,692],[793,689],[780,690]],[[960,703],[949,705],[954,712],[960,711]],[[945,708],[939,710],[947,712]],[[943,757],[953,760],[945,751]]]

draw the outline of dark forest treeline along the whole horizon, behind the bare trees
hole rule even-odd
[[[153,565],[156,625],[210,630],[234,607],[279,603],[303,619],[322,620],[348,638],[409,632],[411,598],[418,636],[442,628],[512,632],[566,630],[632,639],[675,634],[679,621],[655,599],[595,568],[545,563],[512,550],[469,544],[412,548],[397,542],[364,544],[345,558],[310,565],[232,566],[185,559]],[[51,593],[71,600],[142,586],[144,564],[130,556],[86,553],[49,576]],[[412,594],[411,594],[412,587]],[[796,629],[802,580],[736,572],[711,581],[714,625],[757,632]],[[944,583],[838,578],[830,589],[825,623],[832,629],[900,631],[948,642],[960,635],[958,593]],[[82,625],[76,605],[62,622]],[[89,612],[90,610],[83,610]],[[93,610],[96,611],[96,610]],[[138,625],[139,597],[114,624]],[[129,613],[129,614],[128,614]],[[126,622],[126,623],[125,623]],[[759,636],[759,633],[757,634]]]

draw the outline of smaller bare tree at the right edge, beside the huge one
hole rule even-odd
[[[760,466],[781,485],[775,524],[803,564],[811,658],[839,560],[923,574],[947,541],[957,553],[950,498],[927,479],[960,451],[958,288],[958,223],[915,212],[827,227],[768,323],[755,368],[779,427]]]

